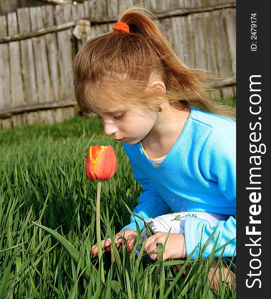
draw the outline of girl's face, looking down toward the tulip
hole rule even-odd
[[[142,141],[157,121],[157,113],[148,108],[120,106],[118,110],[106,113],[95,107],[89,108],[101,120],[106,135],[129,145]]]

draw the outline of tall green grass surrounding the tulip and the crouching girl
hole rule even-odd
[[[125,248],[115,250],[115,263],[104,255],[99,264],[90,255],[96,242],[96,184],[85,175],[85,158],[89,145],[108,144],[118,167],[102,183],[102,238],[113,238],[129,222],[124,202],[133,210],[141,193],[121,143],[103,134],[97,118],[80,116],[0,131],[0,299],[235,298],[236,290],[226,285],[210,290],[208,261],[192,263],[191,270],[188,262],[178,261],[188,271],[182,277],[177,261],[148,263],[142,251],[136,259]],[[79,263],[32,221],[65,237],[83,257]]]

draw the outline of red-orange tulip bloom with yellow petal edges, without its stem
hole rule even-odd
[[[117,157],[111,146],[89,147],[86,159],[86,175],[94,181],[111,178],[117,168]]]

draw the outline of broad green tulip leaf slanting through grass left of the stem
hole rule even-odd
[[[52,229],[46,226],[37,224],[33,221],[32,223],[38,226],[39,228],[43,229],[47,233],[49,233],[67,251],[67,253],[71,256],[71,258],[77,265],[79,262],[81,262],[80,270],[83,273],[84,278],[86,280],[89,280],[90,273],[88,268],[86,267],[86,260],[83,257],[83,255],[76,248],[74,248],[74,246],[68,240],[66,240],[63,236],[61,236],[57,232],[53,231]]]

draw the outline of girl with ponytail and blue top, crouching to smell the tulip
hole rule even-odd
[[[120,15],[112,32],[83,45],[73,61],[73,78],[81,109],[96,114],[105,134],[123,142],[142,184],[134,214],[157,224],[156,217],[172,210],[180,215],[172,219],[182,219],[183,230],[171,231],[163,260],[186,258],[196,249],[195,260],[199,245],[214,230],[203,257],[217,239],[217,248],[229,242],[224,257],[235,256],[236,123],[230,107],[209,99],[206,73],[185,66],[155,17],[134,6]],[[172,219],[166,218],[171,229]],[[143,228],[143,221],[131,217],[116,234],[116,246],[124,236],[131,250],[135,221]],[[168,236],[159,227],[156,232],[144,248],[153,260],[157,243],[164,244]],[[102,247],[112,250],[111,240],[103,240]],[[92,254],[97,254],[96,245]]]

